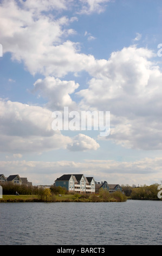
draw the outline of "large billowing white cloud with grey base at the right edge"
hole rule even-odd
[[[147,48],[125,47],[96,60],[93,78],[77,93],[80,106],[111,112],[111,135],[128,148],[162,149],[162,72]]]

